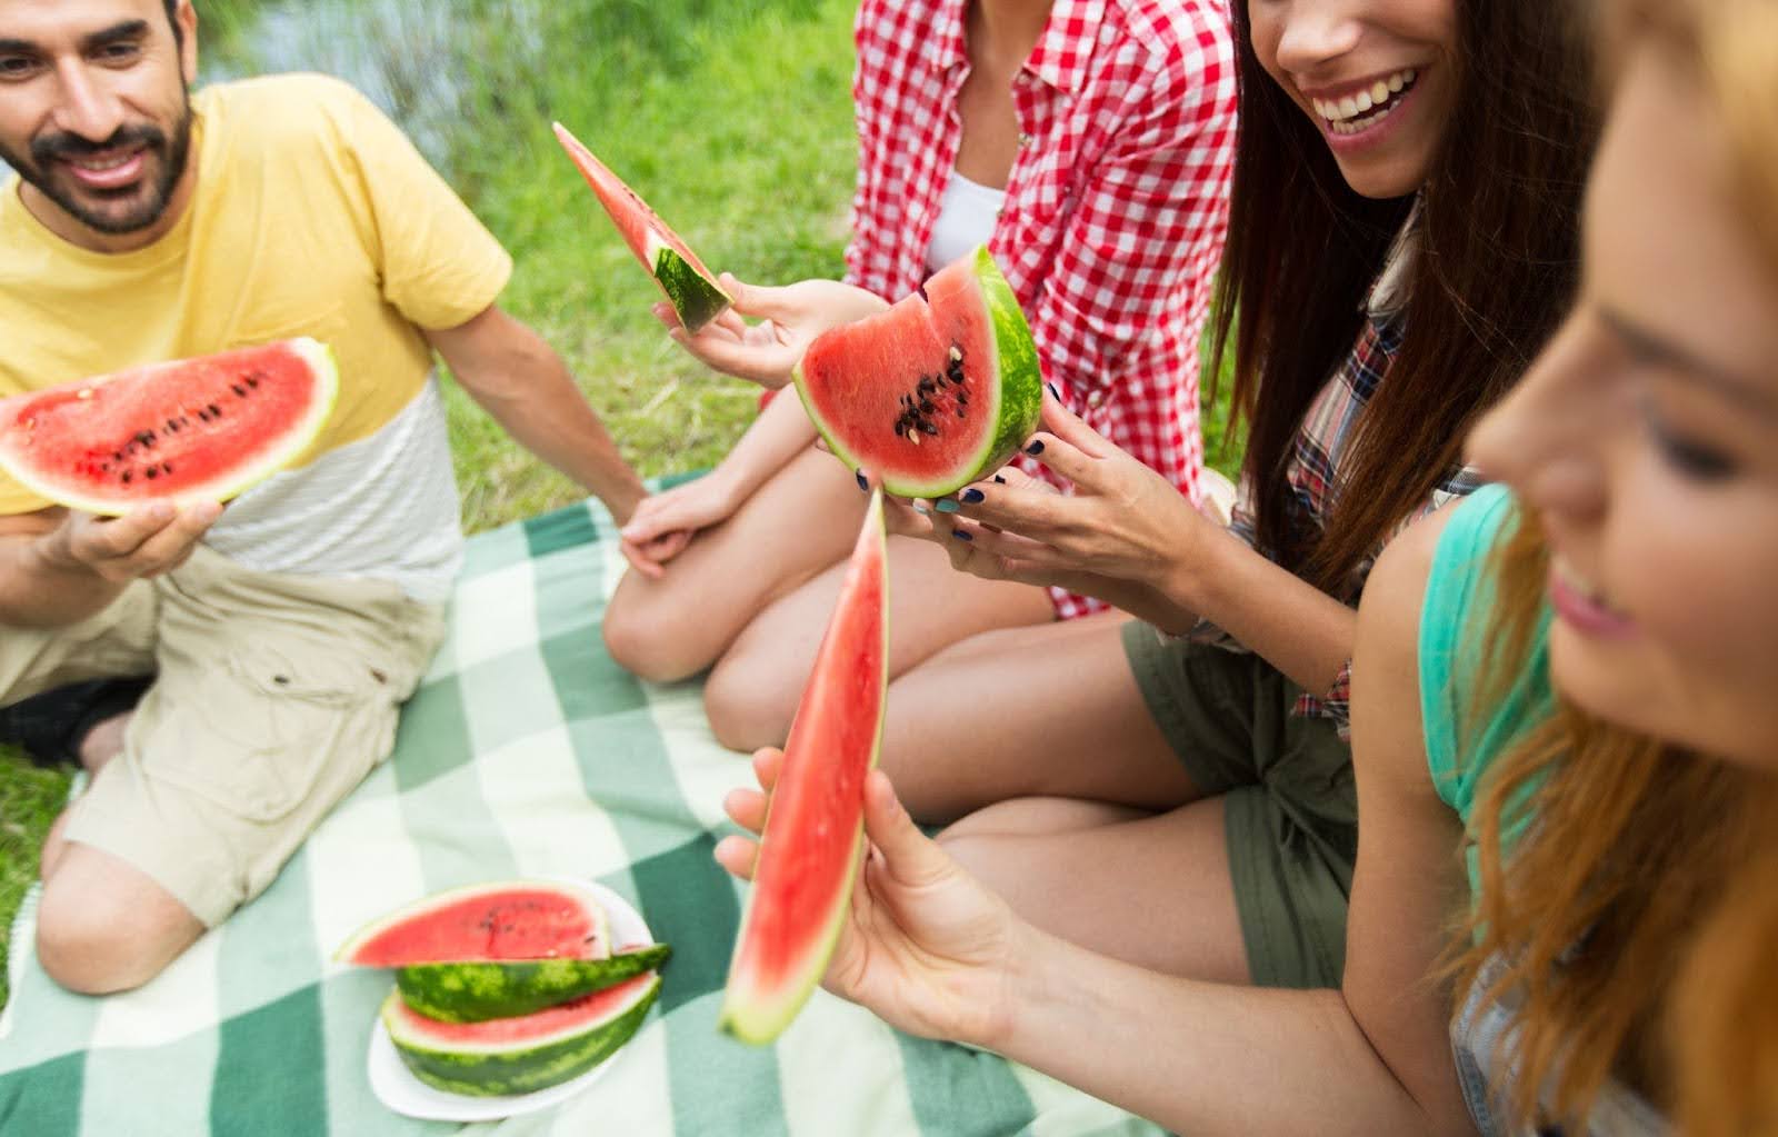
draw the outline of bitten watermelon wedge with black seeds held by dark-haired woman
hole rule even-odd
[[[818,336],[795,379],[839,461],[909,498],[1003,466],[1044,407],[1031,327],[987,247],[889,311]]]

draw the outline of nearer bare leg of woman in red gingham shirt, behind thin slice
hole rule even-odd
[[[853,489],[853,495],[862,498]],[[857,527],[846,534],[850,548]],[[951,568],[944,550],[912,537],[889,537],[889,676],[919,673],[951,644],[1026,625],[1049,626],[1054,607],[1044,589],[981,580]],[[734,639],[704,687],[709,726],[725,746],[782,746],[802,699],[821,633],[839,600],[845,562],[782,594]],[[896,685],[898,687],[898,685]],[[903,696],[891,689],[889,715]],[[958,733],[965,724],[957,724]]]

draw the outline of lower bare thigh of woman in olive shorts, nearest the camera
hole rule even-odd
[[[1221,797],[1154,815],[1006,801],[939,842],[1047,932],[1168,975],[1252,982]]]

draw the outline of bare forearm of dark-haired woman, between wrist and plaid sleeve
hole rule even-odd
[[[1312,694],[1351,660],[1358,614],[1227,532],[1197,564],[1173,566],[1156,591],[1173,607],[1161,625],[1168,632],[1209,619]]]

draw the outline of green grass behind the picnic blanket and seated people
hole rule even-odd
[[[649,313],[653,285],[549,132],[574,130],[741,279],[839,276],[855,0],[197,0],[206,78],[316,69],[377,98],[516,260],[503,304],[567,358],[644,475],[715,464],[757,390]],[[578,500],[446,383],[469,532]],[[1207,407],[1211,454],[1221,407]],[[0,963],[68,774],[0,747]],[[0,966],[0,1004],[5,977]]]

